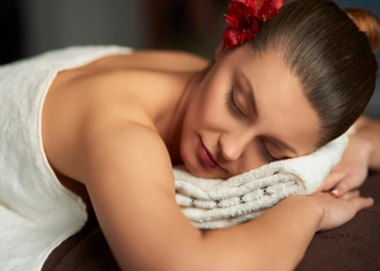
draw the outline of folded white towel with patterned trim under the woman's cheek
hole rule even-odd
[[[343,134],[309,155],[274,162],[228,180],[195,178],[185,168],[175,168],[177,203],[200,229],[245,222],[289,195],[315,192],[347,142]]]

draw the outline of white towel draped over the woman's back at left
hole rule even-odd
[[[49,254],[87,220],[43,152],[41,112],[56,74],[115,54],[119,47],[51,51],[0,67],[0,270],[41,270]]]

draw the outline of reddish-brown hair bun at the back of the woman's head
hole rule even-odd
[[[380,20],[369,11],[359,8],[344,9],[349,17],[364,31],[375,52],[380,47]]]

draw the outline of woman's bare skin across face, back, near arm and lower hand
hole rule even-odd
[[[228,178],[265,163],[259,140],[273,156],[292,157],[268,139],[306,154],[319,128],[276,52],[255,55],[241,47],[217,53],[204,75],[206,66],[188,54],[138,52],[60,73],[42,111],[48,160],[64,185],[88,192],[122,269],[292,270],[316,231],[341,225],[372,202],[356,192],[291,196],[244,224],[194,229],[176,204],[173,164]],[[254,86],[257,114],[237,69]],[[244,118],[226,104],[231,85]],[[200,139],[221,169],[201,163]]]

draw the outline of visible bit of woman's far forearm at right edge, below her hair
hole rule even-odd
[[[368,165],[370,169],[380,169],[380,121],[360,117],[356,124],[353,139],[359,139],[368,144]]]

